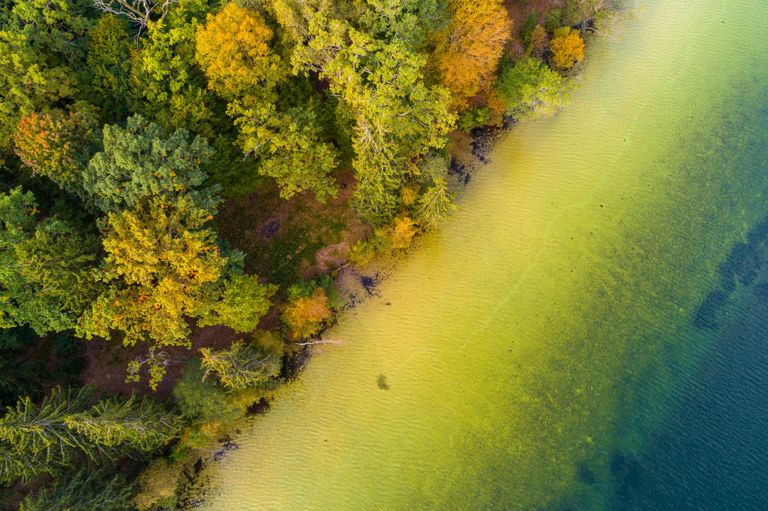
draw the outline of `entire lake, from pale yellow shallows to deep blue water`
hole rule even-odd
[[[649,2],[594,44],[200,509],[768,508],[766,51],[763,0]]]

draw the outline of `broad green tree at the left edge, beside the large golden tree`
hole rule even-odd
[[[101,289],[96,249],[67,223],[40,220],[31,193],[0,194],[0,328],[72,328]]]

